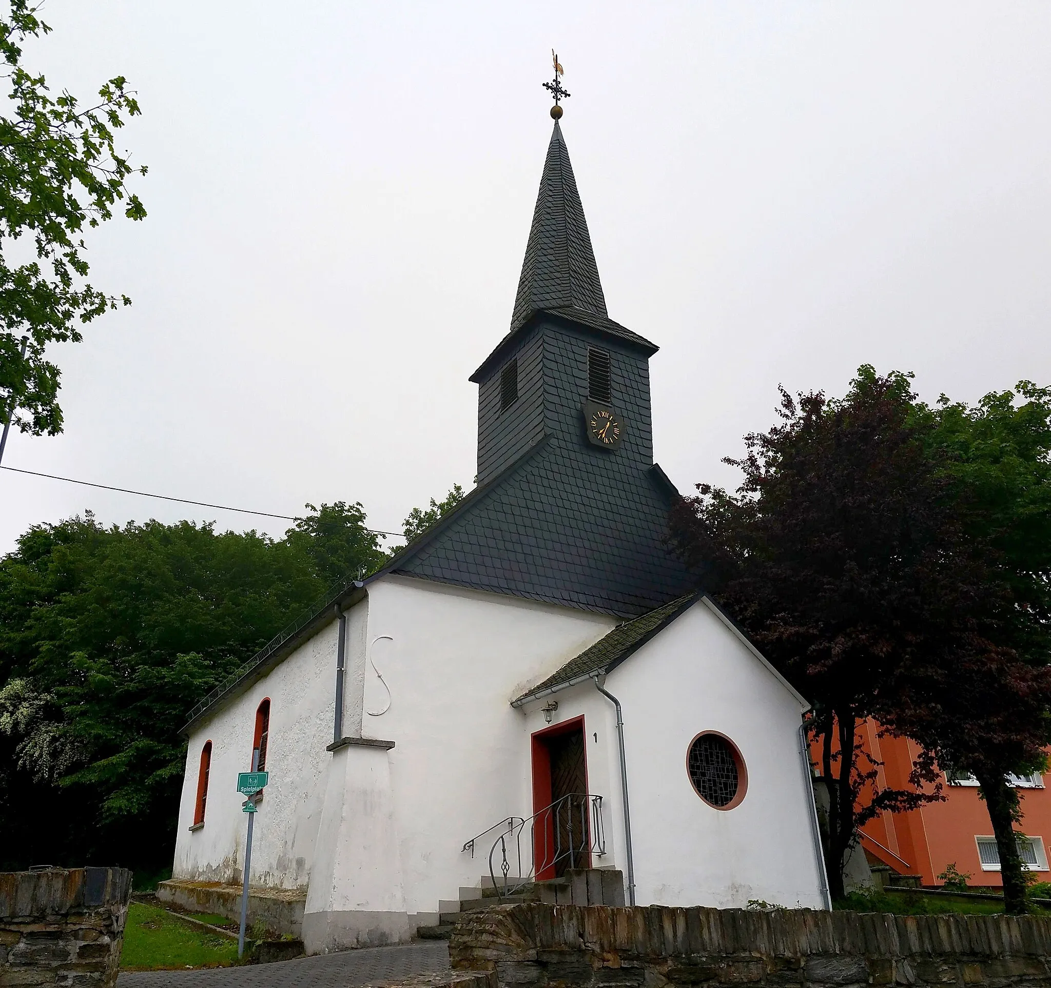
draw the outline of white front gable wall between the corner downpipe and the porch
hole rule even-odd
[[[406,908],[433,913],[488,871],[463,843],[533,811],[527,719],[510,701],[564,664],[615,619],[405,577],[369,588],[364,730],[390,753]],[[380,636],[389,635],[392,640]]]

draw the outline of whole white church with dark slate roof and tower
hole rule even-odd
[[[511,327],[470,377],[477,487],[185,728],[173,880],[242,881],[236,777],[265,768],[249,881],[305,896],[310,953],[571,869],[630,904],[828,907],[807,701],[663,542],[658,348],[606,313],[556,109]]]

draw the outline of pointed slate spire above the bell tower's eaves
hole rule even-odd
[[[557,120],[526,245],[512,330],[540,309],[576,309],[609,317],[588,221]]]

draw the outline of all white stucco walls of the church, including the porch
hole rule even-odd
[[[510,701],[615,623],[427,580],[371,583],[347,613],[343,733],[394,747],[326,750],[333,620],[194,729],[174,877],[240,881],[245,815],[234,783],[250,765],[255,709],[269,697],[271,781],[255,820],[252,884],[310,884],[305,922],[313,918],[315,949],[396,940],[414,922],[436,921],[439,902],[488,873],[495,835],[473,860],[463,843],[533,811],[530,736],[549,726],[549,698],[524,709]],[[796,734],[802,704],[783,681],[698,603],[606,686],[624,708],[637,901],[820,907]],[[605,853],[593,864],[625,870],[614,707],[590,682],[554,699],[554,724],[584,717],[589,790],[603,797]],[[731,738],[747,765],[748,793],[733,810],[707,806],[686,775],[686,748],[706,729]],[[208,739],[207,817],[189,832]]]

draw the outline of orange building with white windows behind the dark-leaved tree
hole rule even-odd
[[[920,748],[905,738],[879,736],[879,725],[865,721],[859,730],[864,747],[878,762],[881,788],[909,788],[908,777]],[[941,885],[937,878],[950,864],[970,874],[968,885],[1001,886],[1000,856],[985,803],[973,777],[950,773],[945,777],[944,802],[928,803],[908,812],[884,812],[862,828],[862,847],[872,864],[889,865],[903,874],[921,876],[923,885]],[[1044,778],[1012,777],[1022,797],[1019,840],[1022,859],[1037,881],[1051,880],[1048,842],[1051,842],[1051,791]]]

